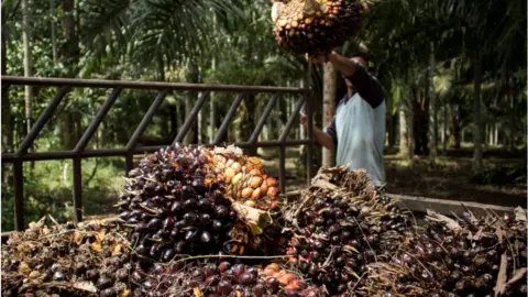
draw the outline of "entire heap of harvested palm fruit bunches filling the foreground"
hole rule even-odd
[[[526,296],[526,211],[416,223],[363,170],[295,201],[237,147],[173,145],[109,221],[44,220],[2,246],[2,296]]]

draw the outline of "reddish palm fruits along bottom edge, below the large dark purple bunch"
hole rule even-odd
[[[324,296],[297,274],[270,264],[260,266],[220,263],[195,263],[184,268],[180,263],[156,265],[151,272],[134,272],[140,283],[133,296]]]

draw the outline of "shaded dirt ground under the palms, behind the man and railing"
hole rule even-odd
[[[273,152],[261,152],[265,166],[278,177],[278,156]],[[472,173],[471,150],[449,151],[440,154],[436,164],[428,157],[416,156],[413,166],[397,154],[385,154],[387,193],[451,200],[475,201],[481,204],[527,207],[526,152],[486,152],[484,154],[484,178],[475,180]],[[299,173],[299,150],[288,148],[286,154],[286,191],[299,189],[307,179]],[[516,180],[499,179],[502,172],[494,168],[517,168],[521,177]],[[518,169],[520,168],[520,169]],[[504,169],[503,169],[504,170]],[[488,173],[490,172],[490,173]],[[494,178],[488,177],[494,174]],[[482,179],[482,178],[481,178]]]

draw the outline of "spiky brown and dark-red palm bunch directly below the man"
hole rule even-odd
[[[321,169],[292,206],[298,230],[288,263],[331,296],[350,296],[366,284],[367,264],[388,258],[407,233],[409,217],[369,183],[364,172]]]

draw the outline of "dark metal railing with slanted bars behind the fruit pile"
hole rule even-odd
[[[105,157],[105,156],[124,156],[127,160],[127,173],[133,167],[133,155],[141,153],[152,153],[166,145],[162,146],[138,146],[138,141],[147,125],[151,123],[154,113],[160,108],[162,102],[168,92],[174,90],[179,91],[201,91],[201,96],[196,101],[194,108],[190,110],[187,119],[185,120],[182,129],[177,133],[173,143],[182,142],[195,122],[198,112],[204,103],[208,100],[211,91],[217,92],[237,92],[237,97],[231,105],[223,122],[221,123],[216,138],[212,143],[204,144],[205,146],[219,145],[223,135],[228,131],[230,123],[235,116],[235,112],[241,105],[244,96],[248,94],[270,94],[271,99],[263,111],[261,119],[258,120],[251,138],[246,142],[234,143],[234,145],[246,147],[278,147],[279,150],[279,182],[280,190],[284,193],[286,183],[286,146],[306,145],[307,146],[307,178],[309,182],[311,173],[312,162],[312,98],[309,89],[302,88],[286,88],[286,87],[263,87],[263,86],[237,86],[237,85],[204,85],[204,84],[179,84],[179,82],[151,82],[151,81],[120,81],[120,80],[100,80],[100,79],[64,79],[64,78],[36,78],[36,77],[14,77],[3,76],[1,78],[2,97],[8,95],[10,86],[41,86],[41,87],[57,87],[57,92],[53,99],[48,102],[47,107],[42,111],[41,116],[33,124],[29,133],[23,139],[22,143],[14,153],[6,153],[1,155],[2,162],[13,164],[13,184],[14,184],[14,226],[16,230],[24,229],[24,172],[23,163],[31,161],[46,161],[46,160],[73,160],[73,202],[74,202],[74,219],[75,221],[82,220],[82,188],[81,188],[81,161],[89,157]],[[110,96],[107,98],[100,110],[91,123],[86,129],[80,140],[72,151],[57,151],[57,152],[36,152],[30,153],[29,148],[33,145],[33,142],[38,136],[46,122],[57,111],[57,107],[63,101],[65,96],[73,88],[106,88],[112,89]],[[132,134],[125,147],[122,148],[103,148],[103,150],[85,150],[88,142],[94,136],[99,124],[102,122],[107,113],[112,108],[113,103],[118,100],[119,95],[123,89],[147,89],[157,90],[157,97],[148,108],[147,112],[143,117],[141,123]],[[296,95],[298,96],[297,103],[294,111],[289,114],[284,130],[280,136],[276,141],[262,141],[258,142],[258,135],[261,134],[266,120],[268,119],[273,107],[278,100],[279,95]],[[286,138],[292,130],[296,121],[296,117],[300,109],[305,106],[306,113],[308,114],[307,125],[307,139],[288,141]]]

